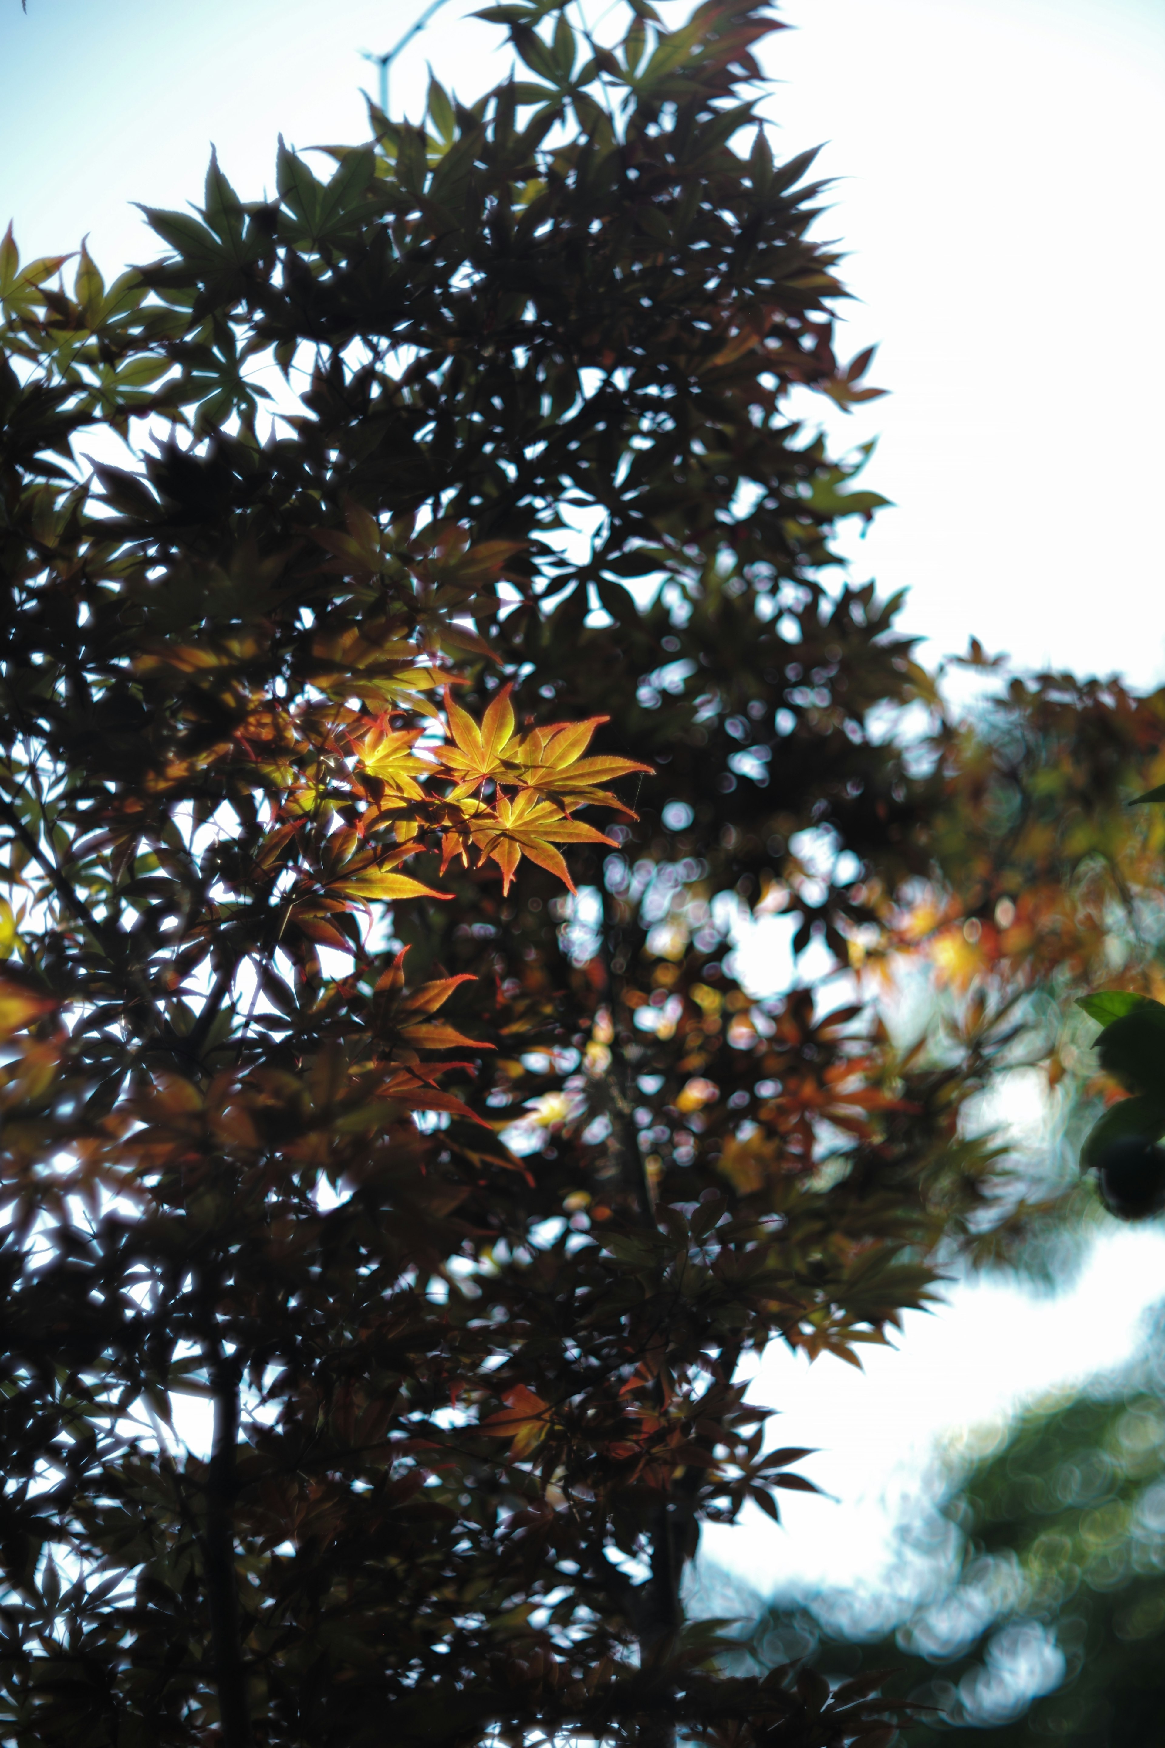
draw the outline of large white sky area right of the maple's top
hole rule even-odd
[[[828,136],[861,414],[896,510],[851,545],[929,654],[1165,678],[1165,7],[795,0],[770,56]],[[849,348],[847,348],[849,350]],[[858,556],[861,554],[861,556]]]

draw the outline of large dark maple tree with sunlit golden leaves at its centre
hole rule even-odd
[[[533,77],[328,182],[211,161],[108,288],[0,255],[14,1743],[893,1731],[681,1601],[812,1486],[741,1360],[884,1339],[997,1171],[990,1003],[903,1056],[725,956],[936,877],[955,743],[821,577],[882,500],[784,411],[870,358],[762,9],[486,16]]]

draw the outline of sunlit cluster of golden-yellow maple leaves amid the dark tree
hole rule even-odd
[[[178,739],[150,780],[155,788],[176,797],[218,767],[271,799],[248,891],[274,898],[283,883],[283,946],[302,935],[316,947],[353,953],[353,911],[447,898],[402,871],[419,851],[433,851],[442,872],[454,857],[473,869],[493,864],[505,891],[527,857],[573,890],[559,846],[613,844],[576,811],[629,813],[606,785],[650,769],[587,755],[604,717],[519,725],[510,687],[479,724],[417,636],[400,615],[314,636],[299,699],[253,689],[252,635],[161,643],[138,661],[141,676],[169,680],[189,699],[194,724],[210,715],[229,724],[210,745],[204,736],[196,746]]]

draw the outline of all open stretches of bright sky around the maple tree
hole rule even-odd
[[[0,0],[0,222],[23,253],[82,232],[112,278],[155,253],[129,205],[197,201],[210,143],[245,198],[276,135],[362,138],[358,51],[391,47],[421,0]],[[475,96],[496,33],[449,0],[393,70],[419,114],[424,63]],[[594,7],[597,10],[597,7]],[[969,633],[1024,664],[1165,680],[1165,9],[1160,0],[789,0],[767,51],[784,156],[828,140],[823,234],[845,241],[847,353],[880,341],[893,388],[838,437],[880,435],[894,498],[859,580],[910,589],[931,657]],[[810,406],[810,416],[819,416]],[[767,1589],[884,1575],[887,1516],[934,1439],[1118,1360],[1160,1292],[1165,1236],[1114,1232],[1058,1301],[961,1287],[912,1316],[865,1377],[774,1353],[777,1437],[823,1446],[844,1502],[789,1496],[788,1531],[709,1538]],[[893,1514],[891,1514],[893,1516]]]

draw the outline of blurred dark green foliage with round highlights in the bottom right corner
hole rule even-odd
[[[975,1729],[983,1748],[1165,1739],[1165,1376],[1148,1358],[947,1453],[947,1495],[905,1531],[929,1585],[896,1631],[877,1598],[770,1603],[749,1624],[763,1668],[807,1657],[849,1680],[887,1673],[931,1748]]]

